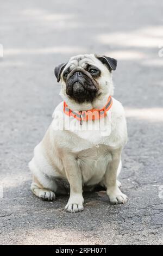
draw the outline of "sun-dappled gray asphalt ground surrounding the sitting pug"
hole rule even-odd
[[[0,4],[0,244],[162,244],[163,2]],[[49,203],[32,194],[28,162],[61,101],[54,67],[79,53],[118,59],[115,97],[129,136],[120,181],[129,201],[114,206],[87,193],[85,210],[68,214],[68,197]]]

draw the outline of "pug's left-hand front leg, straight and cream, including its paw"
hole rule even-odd
[[[84,209],[82,195],[82,173],[78,167],[77,160],[73,156],[65,154],[63,157],[67,180],[70,184],[70,198],[65,211],[78,212]]]

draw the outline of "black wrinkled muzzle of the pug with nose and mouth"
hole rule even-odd
[[[72,99],[82,103],[93,101],[98,93],[98,84],[91,78],[86,71],[74,70],[67,77],[66,94]]]

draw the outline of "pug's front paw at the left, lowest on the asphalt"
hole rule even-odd
[[[83,196],[80,195],[74,195],[71,196],[68,200],[68,203],[65,206],[65,211],[68,212],[78,212],[78,211],[83,211]]]

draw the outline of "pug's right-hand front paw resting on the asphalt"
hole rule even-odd
[[[110,199],[111,204],[125,204],[127,202],[126,194],[123,194],[120,188],[109,188],[106,193]]]

